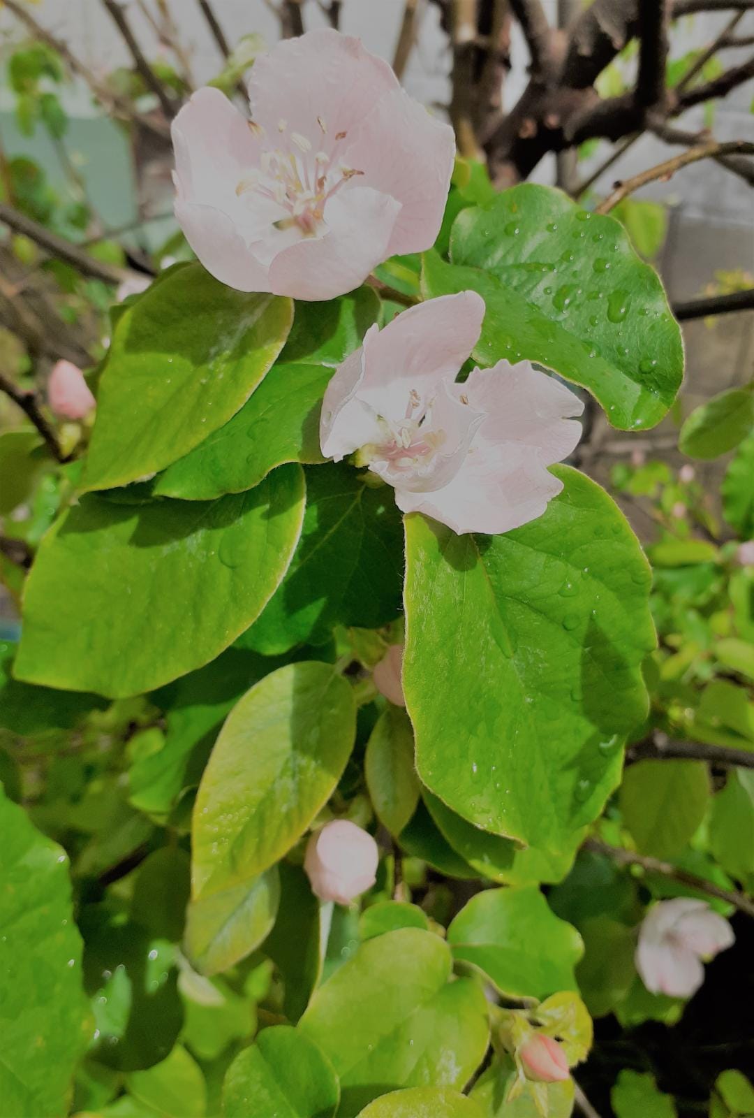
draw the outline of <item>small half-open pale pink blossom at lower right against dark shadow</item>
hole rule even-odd
[[[639,929],[637,970],[652,994],[690,997],[704,982],[701,960],[724,951],[734,939],[728,921],[706,901],[660,901]]]

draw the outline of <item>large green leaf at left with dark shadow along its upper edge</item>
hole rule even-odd
[[[37,555],[16,675],[120,698],[200,667],[274,593],[303,509],[295,465],[213,502],[84,498]]]

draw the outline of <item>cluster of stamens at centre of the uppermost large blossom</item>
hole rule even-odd
[[[249,127],[260,138],[267,131],[254,121]],[[298,229],[305,237],[315,237],[324,221],[325,206],[344,183],[363,174],[338,162],[337,152],[346,132],[337,132],[330,154],[315,151],[315,145],[300,132],[289,132],[287,121],[278,122],[278,145],[265,148],[259,167],[239,181],[236,195],[252,201],[255,197],[276,202],[284,214],[273,225],[276,229]],[[318,141],[324,143],[327,125],[317,116]]]

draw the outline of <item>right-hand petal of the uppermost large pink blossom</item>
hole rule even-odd
[[[403,206],[389,255],[431,248],[440,231],[456,157],[454,131],[405,93],[381,97],[354,130],[344,162]]]

